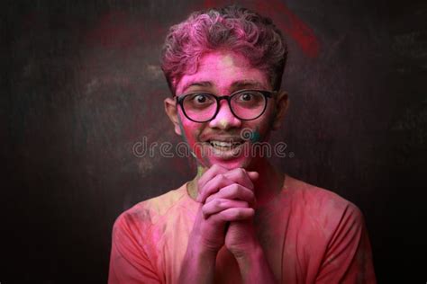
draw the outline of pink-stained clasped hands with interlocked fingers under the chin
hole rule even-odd
[[[257,244],[253,228],[255,181],[259,173],[228,170],[214,164],[197,181],[201,203],[193,233],[205,250],[218,252],[225,244],[235,257]]]

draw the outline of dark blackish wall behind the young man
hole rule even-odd
[[[115,217],[177,188],[163,111],[168,27],[225,1],[2,1],[1,283],[102,283]],[[425,1],[241,1],[289,44],[273,159],[363,211],[381,283],[427,281]],[[301,23],[301,24],[300,24]],[[286,149],[286,150],[287,150]],[[290,157],[294,155],[293,157]]]

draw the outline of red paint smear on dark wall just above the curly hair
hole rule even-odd
[[[225,4],[231,4],[231,2],[205,0],[204,8],[220,7]],[[320,43],[313,30],[280,0],[257,1],[256,3],[243,1],[241,4],[258,13],[269,16],[281,31],[284,31],[295,40],[306,56],[310,58],[319,56]]]

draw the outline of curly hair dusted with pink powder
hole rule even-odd
[[[230,49],[248,58],[251,67],[268,75],[275,90],[280,88],[286,65],[287,46],[268,17],[236,5],[191,13],[184,22],[169,29],[161,68],[173,94],[185,74],[197,71],[199,59],[207,52]]]

